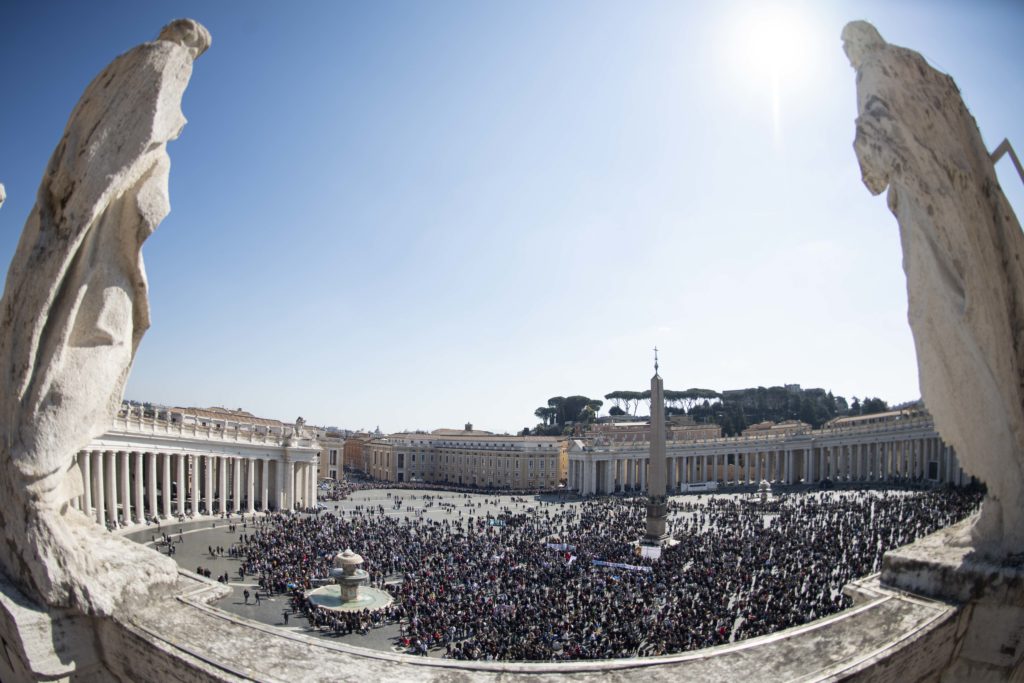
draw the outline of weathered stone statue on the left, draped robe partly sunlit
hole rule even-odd
[[[169,211],[167,142],[210,35],[190,19],[89,84],[53,153],[0,302],[0,568],[51,606],[110,614],[175,580],[174,563],[69,502],[75,453],[121,402],[150,327],[142,242]]]

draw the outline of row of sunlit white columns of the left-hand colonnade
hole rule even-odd
[[[316,463],[215,454],[81,451],[72,507],[109,528],[147,520],[310,508]]]

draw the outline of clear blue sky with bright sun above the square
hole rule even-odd
[[[851,147],[844,24],[922,52],[990,148],[1024,152],[1022,3],[3,16],[3,263],[88,82],[171,18],[210,30],[169,145],[172,211],[143,250],[153,328],[127,396],[315,424],[518,430],[549,396],[644,388],[655,344],[668,388],[915,398],[896,222]]]

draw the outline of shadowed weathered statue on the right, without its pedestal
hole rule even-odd
[[[963,542],[1024,552],[1024,236],[952,79],[865,22],[843,41],[861,175],[874,195],[889,188],[899,222],[922,395],[988,485]]]

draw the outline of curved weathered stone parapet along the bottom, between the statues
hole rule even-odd
[[[218,587],[179,574],[176,596],[105,621],[108,666],[127,680],[825,681],[920,680],[945,660],[957,609],[883,588],[850,589],[859,604],[811,624],[682,654],[572,663],[482,663],[369,650],[228,614],[208,602]],[[912,675],[911,675],[912,674]]]

